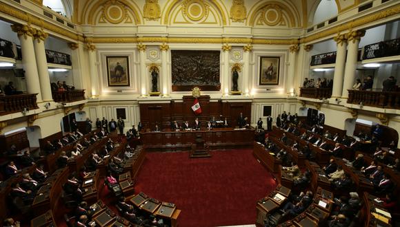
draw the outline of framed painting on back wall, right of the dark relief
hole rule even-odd
[[[260,82],[259,85],[279,84],[279,57],[260,57]]]

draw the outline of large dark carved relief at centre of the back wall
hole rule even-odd
[[[219,51],[171,50],[172,91],[219,91]]]

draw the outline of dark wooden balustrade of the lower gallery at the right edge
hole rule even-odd
[[[347,102],[370,107],[400,109],[400,92],[348,90]]]

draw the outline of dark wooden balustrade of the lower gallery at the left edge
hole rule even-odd
[[[11,114],[27,109],[38,109],[36,103],[37,94],[17,94],[12,96],[0,96],[0,115]]]

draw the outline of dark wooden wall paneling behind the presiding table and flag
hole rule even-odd
[[[212,117],[216,120],[228,118],[231,127],[237,126],[237,118],[242,112],[243,116],[251,119],[251,102],[210,102],[210,96],[201,96],[198,98],[201,106],[201,114],[196,115],[192,111],[194,98],[192,96],[183,96],[182,101],[172,100],[170,103],[151,103],[140,104],[141,122],[145,129],[154,130],[157,122],[161,129],[169,129],[170,122],[177,120],[179,125],[183,121],[188,120],[190,125],[193,124],[195,118],[199,118],[201,125],[204,127],[206,122]]]

